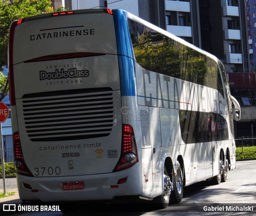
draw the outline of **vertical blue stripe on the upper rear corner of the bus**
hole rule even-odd
[[[113,10],[113,15],[116,30],[121,96],[136,96],[135,62],[127,16],[120,9]]]

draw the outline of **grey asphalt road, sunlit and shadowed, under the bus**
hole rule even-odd
[[[2,179],[0,181],[0,187],[2,187]],[[6,188],[14,187],[16,187],[16,179],[6,179]],[[211,185],[210,182],[202,181],[185,187],[182,202],[170,204],[166,209],[157,209],[144,202],[104,206],[98,203],[90,206],[82,205],[80,208],[75,215],[256,215],[256,160],[238,161],[236,169],[228,172],[227,181],[219,185]],[[63,214],[61,212],[27,212],[19,215],[60,216]]]

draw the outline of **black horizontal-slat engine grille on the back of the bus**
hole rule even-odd
[[[111,88],[26,94],[22,97],[31,141],[78,140],[108,136],[114,106]]]

